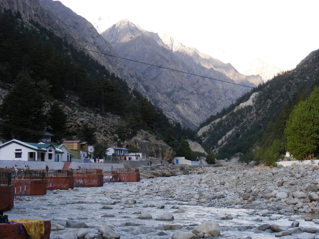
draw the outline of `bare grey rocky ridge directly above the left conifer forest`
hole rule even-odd
[[[116,57],[99,54],[102,52],[115,55],[111,45],[104,40],[94,26],[85,18],[77,15],[59,1],[53,0],[0,0],[0,8],[19,11],[26,22],[33,21],[54,32],[68,44],[87,49],[93,59],[104,65],[110,72],[125,79],[130,87],[142,94],[144,87],[139,82],[142,75],[128,68]],[[152,87],[152,86],[150,86]]]

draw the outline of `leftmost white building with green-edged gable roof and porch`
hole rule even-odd
[[[0,160],[46,161],[54,162],[55,155],[63,152],[52,144],[27,143],[16,139],[0,145]]]

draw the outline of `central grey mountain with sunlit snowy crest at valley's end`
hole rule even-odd
[[[243,76],[230,64],[224,64],[195,48],[184,47],[167,35],[160,37],[157,33],[145,31],[127,19],[114,24],[101,35],[121,57],[148,63],[127,62],[128,66],[150,79],[162,98],[151,97],[151,89],[146,89],[148,95],[167,115],[174,120],[179,119],[183,126],[196,127],[249,89],[213,79],[251,87],[263,83],[260,76]]]

